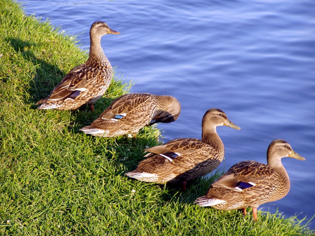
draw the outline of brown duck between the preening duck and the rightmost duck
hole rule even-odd
[[[137,169],[126,176],[145,182],[182,182],[203,176],[220,165],[224,157],[224,145],[216,132],[217,126],[233,124],[220,109],[209,109],[202,119],[202,138],[176,138],[160,146],[145,149],[145,155]]]

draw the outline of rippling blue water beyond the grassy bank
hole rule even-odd
[[[163,141],[201,138],[212,107],[242,128],[217,128],[226,148],[220,169],[241,160],[266,163],[270,142],[288,141],[306,161],[282,159],[290,192],[261,207],[299,219],[315,214],[313,0],[19,2],[26,14],[49,18],[68,34],[84,31],[83,50],[94,21],[119,31],[104,36],[102,47],[123,79],[135,82],[131,92],[169,94],[181,103],[177,121],[158,125]]]

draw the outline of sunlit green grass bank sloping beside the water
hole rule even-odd
[[[113,139],[79,129],[130,84],[115,78],[95,113],[36,110],[87,53],[9,0],[0,25],[0,235],[314,235],[307,220],[258,212],[253,222],[251,214],[194,205],[219,172],[185,192],[124,177],[157,144],[158,130]]]

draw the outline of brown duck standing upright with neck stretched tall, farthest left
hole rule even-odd
[[[47,98],[36,103],[37,109],[75,110],[93,104],[106,92],[112,81],[112,66],[106,58],[100,38],[105,34],[120,34],[110,29],[103,21],[95,21],[90,28],[89,59],[74,67],[60,81]]]

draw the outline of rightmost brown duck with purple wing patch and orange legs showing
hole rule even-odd
[[[279,200],[289,193],[289,176],[281,163],[281,158],[286,156],[305,160],[286,141],[272,141],[267,150],[267,165],[253,160],[235,164],[195,203],[218,210],[242,208],[244,215],[246,207],[250,206],[256,221],[258,206]]]

